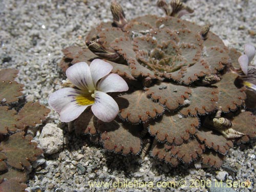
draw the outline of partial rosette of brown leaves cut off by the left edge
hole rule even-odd
[[[27,170],[42,154],[33,138],[26,135],[27,128],[41,123],[50,112],[39,102],[28,102],[19,112],[14,110],[24,87],[14,80],[17,74],[14,69],[0,70],[0,190],[8,192],[25,190]]]

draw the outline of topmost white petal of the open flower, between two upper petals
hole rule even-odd
[[[108,75],[113,69],[113,66],[101,59],[94,59],[90,64],[90,71],[92,74],[93,84],[96,87],[96,83],[102,77]]]

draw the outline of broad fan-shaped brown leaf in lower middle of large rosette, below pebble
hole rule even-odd
[[[196,133],[196,127],[199,126],[197,117],[180,117],[176,115],[165,114],[162,118],[150,123],[148,130],[152,136],[160,141],[167,140],[168,143],[181,145],[183,141],[189,139],[189,134]]]

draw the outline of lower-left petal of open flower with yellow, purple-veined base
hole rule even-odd
[[[62,122],[70,122],[76,119],[88,106],[92,105],[94,99],[91,94],[85,94],[83,91],[64,88],[52,93],[48,102],[58,112]]]

